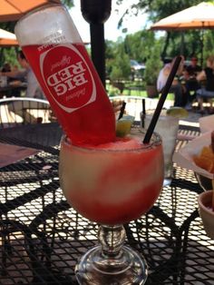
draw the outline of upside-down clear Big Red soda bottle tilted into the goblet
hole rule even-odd
[[[34,10],[18,21],[15,34],[73,143],[114,141],[112,104],[65,7],[45,5]]]

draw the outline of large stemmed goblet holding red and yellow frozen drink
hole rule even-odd
[[[74,146],[63,137],[59,175],[63,193],[83,217],[100,225],[100,245],[76,265],[80,284],[144,284],[146,261],[123,246],[123,223],[138,219],[157,200],[163,182],[160,136],[143,133],[97,146]]]

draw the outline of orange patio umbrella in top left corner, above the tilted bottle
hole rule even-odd
[[[60,0],[1,0],[0,22],[16,21],[36,7],[60,2]]]

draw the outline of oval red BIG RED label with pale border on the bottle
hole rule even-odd
[[[72,113],[95,101],[91,71],[73,44],[59,44],[41,54],[40,69],[44,84],[63,111]]]

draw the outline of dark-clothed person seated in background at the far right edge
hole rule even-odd
[[[204,99],[210,104],[209,112],[212,113],[212,100],[214,99],[214,55],[210,55],[207,59],[207,67],[198,75],[198,81],[206,81],[205,86],[197,90],[197,99],[199,102],[199,112],[204,113]]]

